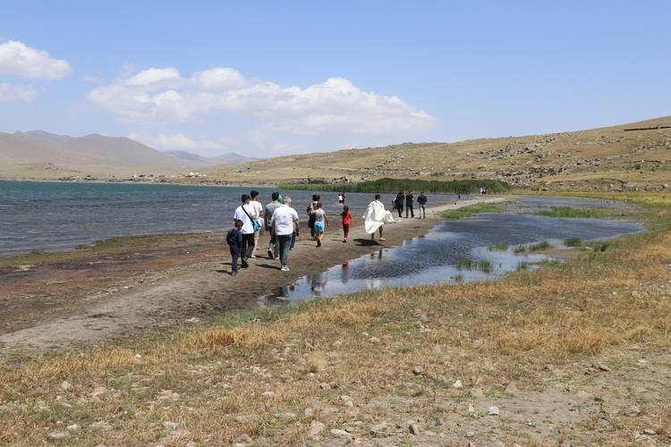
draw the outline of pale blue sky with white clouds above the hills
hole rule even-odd
[[[671,114],[671,2],[0,0],[0,131],[247,156]]]

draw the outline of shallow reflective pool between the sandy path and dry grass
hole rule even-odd
[[[556,198],[548,203],[563,204]],[[539,201],[534,199],[531,205],[538,207]],[[441,223],[426,235],[403,241],[399,247],[380,249],[325,272],[303,276],[293,285],[263,297],[263,301],[273,306],[384,287],[496,279],[510,272],[537,268],[533,264],[548,260],[539,254],[515,253],[519,246],[545,240],[560,246],[567,238],[595,240],[639,231],[640,224],[626,221],[483,214]],[[489,250],[493,244],[507,244],[508,249]]]

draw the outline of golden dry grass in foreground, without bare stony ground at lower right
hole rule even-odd
[[[41,444],[79,424],[67,443],[219,445],[247,434],[260,444],[295,444],[306,441],[314,418],[334,427],[372,423],[389,417],[386,405],[399,396],[432,414],[421,402],[437,393],[459,398],[455,378],[467,387],[544,386],[548,364],[568,367],[633,344],[667,350],[671,299],[661,286],[669,264],[671,231],[659,230],[497,283],[321,299],[233,327],[5,366],[0,440]],[[668,425],[666,415],[659,420]],[[626,439],[623,424],[608,439]]]

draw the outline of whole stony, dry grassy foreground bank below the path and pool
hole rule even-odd
[[[570,415],[597,406],[580,422],[542,414],[553,405],[568,411],[565,396],[590,380],[620,380],[640,358],[667,355],[669,204],[640,203],[658,230],[497,283],[235,313],[195,330],[5,366],[0,442],[528,445],[548,434],[556,443],[624,444],[644,428],[671,442],[667,391],[650,405],[635,401],[650,391],[631,392],[624,409],[642,408],[633,417],[619,411],[616,396],[573,405]],[[584,365],[596,361],[587,375]],[[645,385],[658,383],[667,386],[663,378]],[[608,389],[630,388],[614,383],[600,392]],[[506,413],[518,399],[521,416]],[[501,415],[487,416],[488,405]]]

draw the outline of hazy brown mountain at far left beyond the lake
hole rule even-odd
[[[134,139],[90,134],[55,135],[46,131],[0,132],[0,163],[47,163],[98,172],[139,168],[179,169],[183,162]]]

